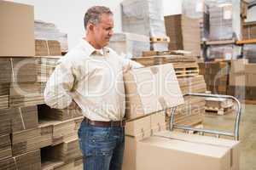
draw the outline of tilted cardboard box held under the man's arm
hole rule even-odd
[[[133,119],[183,104],[172,64],[134,69],[124,74],[125,116]]]

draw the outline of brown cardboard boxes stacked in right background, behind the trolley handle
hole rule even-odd
[[[205,76],[207,90],[212,94],[229,94],[239,99],[255,99],[255,65],[247,59],[230,62],[200,63],[200,74]]]

